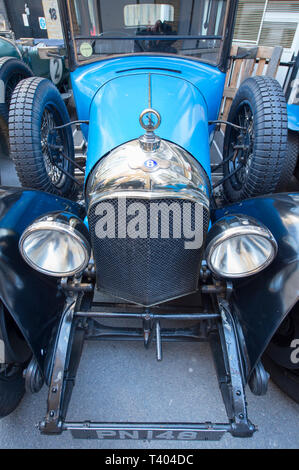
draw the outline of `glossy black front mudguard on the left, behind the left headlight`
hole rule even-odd
[[[18,243],[25,228],[37,217],[55,211],[84,218],[84,209],[66,199],[39,191],[0,189],[0,299],[42,370],[64,296],[56,279],[39,274],[23,261]]]

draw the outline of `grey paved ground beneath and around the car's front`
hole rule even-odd
[[[69,433],[41,436],[34,427],[46,410],[47,389],[26,395],[0,421],[0,448],[297,448],[299,405],[270,382],[268,394],[247,391],[249,417],[259,426],[250,439],[224,436],[219,442],[74,440]],[[157,363],[154,347],[141,343],[89,343],[82,356],[69,420],[208,421],[226,419],[208,344],[164,345]]]

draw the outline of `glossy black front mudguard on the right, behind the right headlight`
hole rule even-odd
[[[246,214],[266,225],[278,243],[273,263],[261,273],[233,281],[231,302],[240,326],[239,339],[247,356],[247,378],[277,328],[299,299],[299,193],[248,199],[216,210]]]

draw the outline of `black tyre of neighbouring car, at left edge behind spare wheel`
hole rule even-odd
[[[0,93],[0,145],[1,151],[8,155],[8,114],[13,89],[25,78],[32,77],[32,70],[20,59],[13,57],[1,57],[0,59],[0,83],[4,88]],[[1,82],[2,80],[2,82]]]

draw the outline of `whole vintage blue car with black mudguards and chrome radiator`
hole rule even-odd
[[[46,383],[44,434],[250,437],[245,386],[266,392],[266,350],[295,383],[299,194],[273,194],[288,158],[274,79],[244,81],[224,123],[225,204],[211,174],[236,8],[60,1],[87,163],[74,161],[74,123],[54,85],[21,81],[9,133],[23,188],[0,189],[0,416]],[[69,422],[83,343],[103,339],[155,343],[159,361],[163,342],[208,341],[227,422]]]

